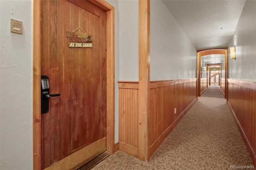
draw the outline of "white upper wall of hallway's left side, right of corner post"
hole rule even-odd
[[[162,0],[150,1],[150,80],[196,78],[196,56]]]

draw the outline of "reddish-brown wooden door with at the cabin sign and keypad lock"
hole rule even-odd
[[[67,32],[91,34],[93,47],[69,47]],[[61,94],[41,115],[42,169],[98,141],[87,157],[104,152],[106,12],[86,0],[41,0],[41,75]]]

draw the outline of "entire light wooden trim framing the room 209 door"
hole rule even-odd
[[[104,0],[89,0],[98,8],[106,11],[107,38],[107,129],[106,150],[115,149],[115,47],[114,47],[114,7]],[[40,0],[33,1],[33,169],[41,170],[41,28]]]

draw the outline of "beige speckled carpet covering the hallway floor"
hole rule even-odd
[[[149,162],[118,151],[93,170],[224,170],[254,165],[220,87],[208,87]]]

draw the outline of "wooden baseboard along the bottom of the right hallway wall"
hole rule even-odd
[[[239,123],[239,121],[238,121],[238,119],[236,117],[236,114],[235,114],[234,110],[232,109],[229,101],[227,102],[227,104],[228,104],[228,107],[229,107],[229,109],[230,109],[230,111],[232,113],[234,121],[235,121],[235,123],[236,123],[236,125],[237,125],[237,127],[238,127],[238,129],[239,129],[239,131],[241,133],[241,135],[242,135],[242,138],[243,138],[244,143],[245,143],[245,145],[247,147],[247,150],[248,150],[248,152],[249,152],[249,154],[250,154],[250,156],[252,158],[252,161],[253,161],[254,165],[256,165],[256,154],[255,154],[254,150],[252,149],[252,146],[251,146],[248,138],[246,137],[246,135],[244,133],[244,130],[243,130],[242,126],[240,125],[240,123]]]

